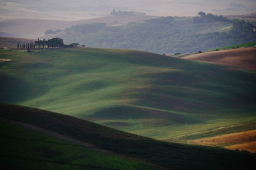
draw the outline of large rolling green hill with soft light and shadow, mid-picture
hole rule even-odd
[[[158,139],[256,119],[253,71],[101,48],[0,55],[1,102]]]

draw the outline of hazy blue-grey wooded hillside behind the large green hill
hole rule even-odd
[[[207,22],[195,18],[161,17],[120,27],[83,24],[68,29],[66,41],[104,48],[128,48],[156,53],[185,53],[256,41],[253,25],[200,13]],[[219,32],[216,27],[232,27]]]

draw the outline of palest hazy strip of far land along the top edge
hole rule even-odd
[[[215,15],[248,15],[256,12],[256,3],[253,0],[0,0],[0,20],[85,20],[106,17],[114,8],[153,16],[195,16],[199,11]]]

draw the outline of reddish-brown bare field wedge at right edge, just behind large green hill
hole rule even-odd
[[[182,59],[209,62],[256,71],[255,47],[197,53],[195,55],[189,55],[188,57],[182,57]]]

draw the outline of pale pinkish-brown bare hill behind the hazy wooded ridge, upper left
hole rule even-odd
[[[15,36],[20,38],[31,38],[43,36],[45,31],[52,29],[65,29],[77,24],[92,24],[103,22],[108,25],[125,25],[129,22],[138,22],[157,18],[147,15],[125,15],[109,16],[88,20],[63,21],[63,20],[40,20],[40,19],[17,19],[0,21],[0,31],[3,36]],[[1,34],[0,34],[1,35]],[[12,37],[13,37],[12,36]]]

